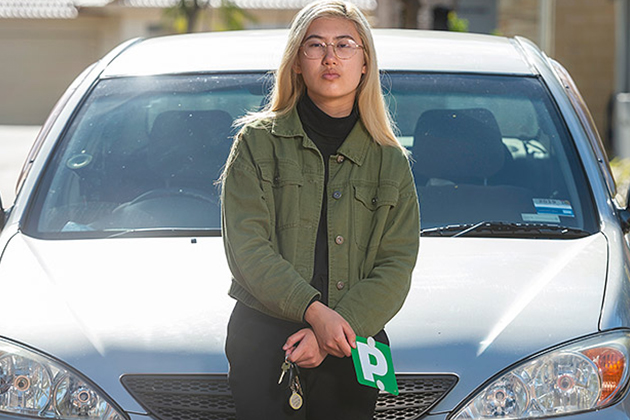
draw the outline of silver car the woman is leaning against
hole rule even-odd
[[[216,180],[286,35],[133,40],[60,99],[0,218],[0,419],[234,418]],[[376,418],[630,418],[629,213],[567,72],[522,38],[375,39],[422,214]]]

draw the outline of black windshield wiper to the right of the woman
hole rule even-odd
[[[422,236],[491,236],[502,238],[584,238],[590,235],[582,229],[545,223],[491,222],[462,223],[423,229]]]

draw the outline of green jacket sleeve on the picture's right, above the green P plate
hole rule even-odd
[[[420,214],[410,170],[399,191],[398,202],[387,217],[373,270],[335,307],[360,336],[372,336],[383,329],[402,307],[411,286],[419,250]]]

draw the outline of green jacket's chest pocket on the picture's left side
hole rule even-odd
[[[299,226],[304,175],[293,162],[260,164],[265,200],[278,229]]]

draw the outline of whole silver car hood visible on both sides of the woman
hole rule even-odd
[[[422,238],[387,326],[398,372],[454,373],[451,409],[524,357],[597,331],[602,234],[573,240]],[[15,235],[0,262],[0,335],[78,369],[129,411],[125,373],[227,372],[234,301],[221,238],[47,241]]]

